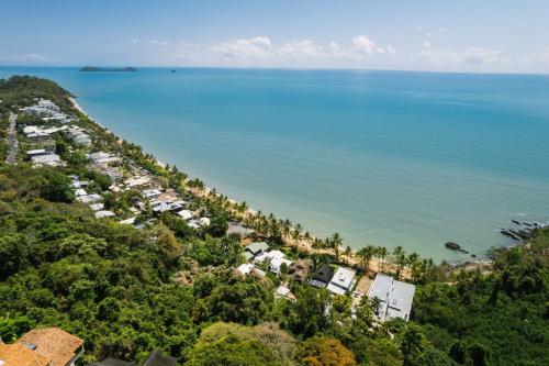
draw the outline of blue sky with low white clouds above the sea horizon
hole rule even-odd
[[[547,0],[0,0],[0,65],[549,74]]]

